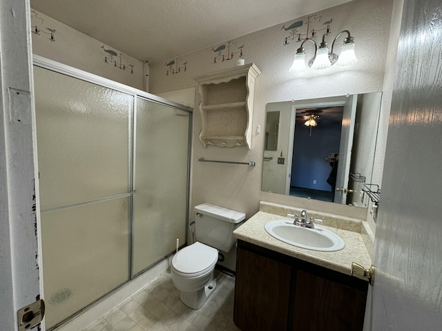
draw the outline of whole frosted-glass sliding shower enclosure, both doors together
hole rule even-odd
[[[191,108],[36,57],[46,327],[184,243]]]

